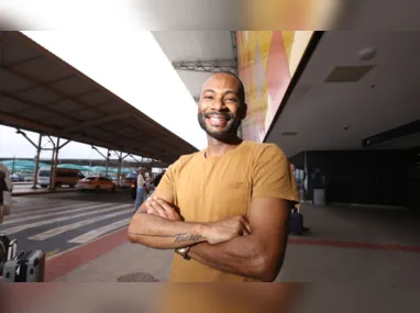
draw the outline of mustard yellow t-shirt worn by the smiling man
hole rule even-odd
[[[298,201],[288,159],[274,144],[243,142],[222,156],[205,150],[183,156],[162,178],[157,190],[174,194],[186,222],[213,222],[248,214],[253,198]],[[222,272],[177,254],[172,282],[241,282],[245,277]]]

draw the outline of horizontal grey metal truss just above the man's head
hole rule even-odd
[[[181,62],[173,62],[173,67],[179,70],[202,71],[202,72],[231,71],[236,74],[237,62],[235,59],[181,60]]]

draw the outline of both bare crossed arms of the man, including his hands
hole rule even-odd
[[[276,278],[287,244],[287,200],[255,198],[247,217],[189,223],[170,205],[172,195],[156,191],[153,198],[130,224],[132,243],[165,249],[190,246],[189,257],[211,268],[262,281]],[[232,236],[234,227],[239,227],[236,236]]]

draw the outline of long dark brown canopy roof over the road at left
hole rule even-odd
[[[0,124],[166,163],[197,152],[20,32],[0,32]]]

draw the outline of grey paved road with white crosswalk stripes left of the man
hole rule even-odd
[[[43,249],[48,256],[128,226],[134,201],[117,193],[56,193],[14,198],[0,233],[16,238],[19,250]]]

